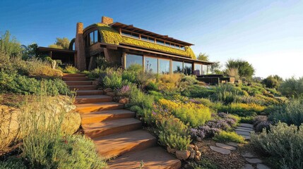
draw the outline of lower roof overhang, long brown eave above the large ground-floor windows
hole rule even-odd
[[[105,44],[105,43],[100,43],[100,46],[102,48],[107,48],[107,49],[122,49],[123,51],[139,51],[141,52],[141,54],[155,54],[158,56],[164,56],[167,58],[172,58],[173,60],[178,60],[178,61],[186,61],[186,62],[190,62],[190,63],[202,63],[203,65],[212,65],[213,62],[209,62],[209,61],[199,61],[196,59],[192,59],[192,58],[187,58],[184,56],[177,56],[174,54],[167,54],[161,51],[153,51],[150,49],[143,49],[143,48],[138,48],[135,46],[131,46],[131,45],[126,45],[126,44]]]

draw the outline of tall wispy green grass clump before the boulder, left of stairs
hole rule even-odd
[[[32,103],[35,106],[32,106]],[[31,97],[21,108],[21,156],[30,168],[105,168],[90,139],[68,135],[62,127],[65,111],[46,95]],[[64,110],[64,109],[62,109]]]

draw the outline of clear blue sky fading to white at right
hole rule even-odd
[[[195,44],[196,54],[225,63],[242,58],[256,76],[303,76],[303,1],[0,1],[0,32],[22,44],[75,36],[76,23],[114,21]]]

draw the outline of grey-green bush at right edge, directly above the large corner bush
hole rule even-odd
[[[288,125],[301,125],[303,123],[303,97],[290,99],[283,106],[275,106],[274,111],[270,114],[270,119]]]

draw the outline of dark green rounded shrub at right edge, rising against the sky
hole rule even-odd
[[[291,77],[290,79],[286,79],[284,82],[280,84],[278,88],[279,92],[287,97],[299,97],[303,94],[303,77],[299,77],[299,79],[295,79],[295,77]]]

